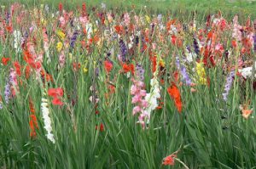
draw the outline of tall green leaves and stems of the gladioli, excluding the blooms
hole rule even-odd
[[[27,2],[27,1],[26,1]],[[25,1],[24,1],[25,3]],[[37,3],[37,2],[34,2]],[[54,4],[55,1],[44,3]],[[67,3],[67,2],[66,2]],[[66,7],[66,3],[64,6]],[[76,4],[70,2],[67,4]],[[98,3],[96,1],[96,3]],[[114,5],[115,2],[113,2]],[[121,2],[123,4],[124,2]],[[134,3],[134,2],[131,2]],[[141,2],[137,2],[141,4]],[[169,3],[166,1],[167,4]],[[32,3],[27,3],[30,6]],[[154,4],[154,3],[152,3]],[[224,3],[225,4],[225,3]],[[38,7],[39,8],[39,7]],[[160,6],[160,8],[162,8]],[[176,18],[177,14],[187,14],[183,8],[170,14],[171,18]],[[117,15],[122,14],[125,8],[119,8]],[[128,10],[128,9],[127,9]],[[160,9],[157,9],[160,10]],[[201,11],[201,6],[197,7]],[[212,9],[210,9],[212,11]],[[53,11],[53,9],[52,9]],[[97,11],[96,11],[97,12]],[[96,12],[89,10],[90,20],[93,29],[97,29],[103,36],[104,26],[96,27]],[[160,11],[158,11],[160,12]],[[79,13],[74,12],[76,16]],[[147,9],[142,9],[140,16],[145,14],[153,16]],[[168,13],[168,11],[166,11]],[[191,13],[188,13],[191,14]],[[196,20],[204,20],[204,15],[199,13]],[[223,14],[225,13],[223,10]],[[230,13],[233,14],[233,13]],[[3,13],[2,13],[3,15]],[[49,25],[46,25],[49,37],[56,38],[54,28],[50,25],[52,21],[50,13],[44,13]],[[192,16],[179,16],[181,22],[188,24],[193,20]],[[30,16],[34,20],[34,15]],[[163,15],[165,24],[167,14]],[[246,18],[246,17],[244,17]],[[231,19],[230,19],[231,20]],[[14,21],[15,22],[15,21]],[[117,20],[118,22],[118,20]],[[203,21],[200,21],[203,22]],[[245,20],[243,20],[243,23]],[[110,23],[109,23],[110,24]],[[29,30],[31,25],[14,25],[14,29],[23,27]],[[38,31],[34,31],[37,40],[36,50],[43,48],[42,27],[38,26]],[[70,25],[69,25],[70,26]],[[144,30],[149,24],[141,27]],[[197,25],[202,28],[204,24]],[[72,27],[68,27],[73,31]],[[183,48],[192,44],[192,35],[185,31],[186,36]],[[224,35],[225,37],[230,37]],[[82,35],[78,41],[88,41]],[[129,37],[124,37],[128,41]],[[175,166],[163,166],[162,160],[167,155],[171,155],[178,150],[177,158],[184,162],[189,168],[253,168],[256,167],[256,121],[255,115],[256,96],[253,91],[253,79],[242,83],[239,76],[235,76],[234,84],[230,90],[227,103],[222,99],[226,75],[224,75],[222,64],[224,59],[215,67],[207,69],[207,76],[211,80],[210,85],[196,86],[196,93],[190,91],[191,87],[182,85],[179,87],[183,100],[183,111],[178,113],[171,97],[167,93],[171,81],[174,81],[172,73],[177,70],[175,66],[175,56],[182,57],[183,51],[172,44],[170,37],[165,37],[166,41],[160,43],[156,35],[153,40],[160,44],[157,53],[166,63],[166,72],[171,74],[168,80],[167,74],[163,76],[166,80],[161,84],[161,100],[164,102],[161,110],[154,110],[150,119],[148,129],[137,124],[137,117],[131,111],[131,78],[127,78],[125,73],[121,73],[122,65],[119,64],[117,56],[119,54],[119,41],[103,39],[101,44],[91,44],[90,51],[81,47],[79,42],[75,48],[66,48],[65,66],[59,68],[58,52],[56,51],[56,41],[50,44],[49,51],[51,63],[47,64],[44,56],[43,67],[53,77],[53,82],[42,82],[38,80],[35,72],[30,78],[25,78],[25,67],[28,65],[22,53],[16,54],[12,42],[14,38],[8,34],[6,40],[1,40],[0,56],[10,57],[9,65],[0,65],[0,90],[4,98],[4,86],[9,77],[9,69],[13,67],[14,61],[19,61],[22,75],[18,77],[19,93],[9,104],[3,99],[3,110],[0,110],[0,167],[2,168],[183,168],[181,163],[176,161]],[[225,47],[229,47],[230,39],[221,42]],[[140,43],[143,43],[140,37]],[[152,48],[148,44],[149,48]],[[240,46],[241,47],[241,46]],[[105,52],[113,48],[110,59],[113,60],[113,70],[106,73],[103,61]],[[139,49],[131,57],[131,63],[141,63],[145,70],[146,90],[149,91],[151,72],[151,61],[148,50],[142,53]],[[239,52],[232,49],[232,59],[240,57]],[[72,54],[72,57],[69,56]],[[248,58],[255,58],[255,53]],[[86,60],[86,61],[85,61]],[[236,60],[237,61],[237,60]],[[254,61],[254,60],[253,60]],[[73,63],[81,63],[79,70],[73,69]],[[88,63],[84,65],[84,63]],[[237,63],[233,63],[237,68]],[[84,66],[88,69],[84,73]],[[195,67],[195,60],[188,65],[189,75],[195,76],[192,70]],[[98,75],[96,76],[96,69]],[[115,92],[106,97],[108,93],[108,83],[113,82]],[[40,86],[44,83],[44,87]],[[96,87],[96,93],[90,87]],[[51,87],[62,87],[64,89],[63,106],[51,104],[51,98],[47,95],[47,90]],[[44,95],[46,93],[46,95]],[[90,102],[90,96],[96,94],[100,101]],[[245,98],[246,96],[246,98]],[[49,112],[52,121],[55,144],[52,144],[45,136],[44,120],[41,111],[41,99],[45,97],[49,100]],[[29,99],[32,99],[36,115],[38,118],[37,137],[30,137],[30,109]],[[239,104],[251,100],[253,114],[250,118],[244,119],[239,110]],[[96,115],[96,110],[99,114]],[[98,130],[101,123],[104,130]]]

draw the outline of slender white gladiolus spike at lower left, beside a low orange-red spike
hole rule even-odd
[[[44,119],[44,128],[47,131],[46,137],[53,143],[55,144],[55,138],[54,135],[51,133],[52,132],[52,127],[51,127],[51,121],[49,118],[49,109],[48,109],[48,100],[42,98],[42,103],[41,103],[41,110],[43,113],[43,119]]]

